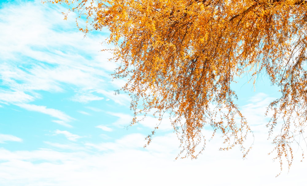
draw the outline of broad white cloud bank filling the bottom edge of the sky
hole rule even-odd
[[[197,160],[174,161],[179,149],[172,135],[154,138],[145,151],[142,148],[143,137],[131,134],[115,143],[101,145],[101,149],[112,150],[103,153],[78,149],[74,152],[58,152],[50,149],[9,151],[0,148],[0,184],[98,186],[101,183],[124,185],[128,181],[134,185],[147,183],[149,186],[198,185],[204,179],[207,185],[305,184],[305,161],[295,161],[289,173],[282,172],[275,178],[279,166],[265,153],[271,147],[265,138],[262,139],[264,144],[257,145],[246,160],[242,160],[237,149],[218,151],[216,146],[219,142],[213,140],[207,145],[209,149]],[[181,175],[184,178],[177,179]],[[121,179],[118,179],[119,176]]]

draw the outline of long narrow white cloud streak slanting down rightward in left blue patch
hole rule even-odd
[[[65,122],[71,121],[74,118],[68,116],[67,114],[63,113],[60,110],[56,109],[48,109],[46,106],[39,106],[39,105],[31,105],[31,104],[16,104],[17,106],[29,110],[29,111],[36,111],[40,113],[47,114],[49,116],[58,118],[60,120],[63,120]]]

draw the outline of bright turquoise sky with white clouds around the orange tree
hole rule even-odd
[[[306,161],[294,148],[290,171],[268,153],[266,107],[280,96],[265,75],[255,90],[248,77],[232,87],[254,137],[245,159],[239,148],[219,151],[214,137],[196,160],[178,159],[179,141],[163,120],[152,143],[145,137],[157,120],[126,127],[130,97],[114,94],[108,30],[84,37],[67,6],[0,0],[0,185],[277,185],[305,183]],[[207,129],[206,134],[212,132]]]

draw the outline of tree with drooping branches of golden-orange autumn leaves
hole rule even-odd
[[[113,77],[129,79],[122,90],[132,97],[131,125],[151,110],[159,120],[170,114],[181,141],[178,156],[196,158],[204,149],[205,125],[213,135],[222,132],[227,147],[221,149],[239,145],[246,156],[250,148],[243,143],[251,129],[230,84],[246,73],[254,82],[267,74],[282,93],[268,106],[274,114],[267,127],[272,135],[281,125],[273,151],[281,169],[284,158],[290,168],[291,144],[299,144],[295,137],[303,136],[307,120],[306,0],[54,2],[72,6],[68,13],[85,16],[93,29],[110,30],[107,42],[117,46],[112,60],[120,63]],[[90,31],[88,25],[79,29]]]

